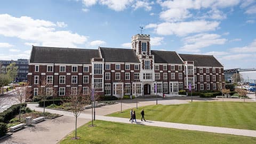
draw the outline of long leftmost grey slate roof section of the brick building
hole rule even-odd
[[[82,64],[91,63],[92,58],[100,58],[99,50],[33,46],[30,62]]]

